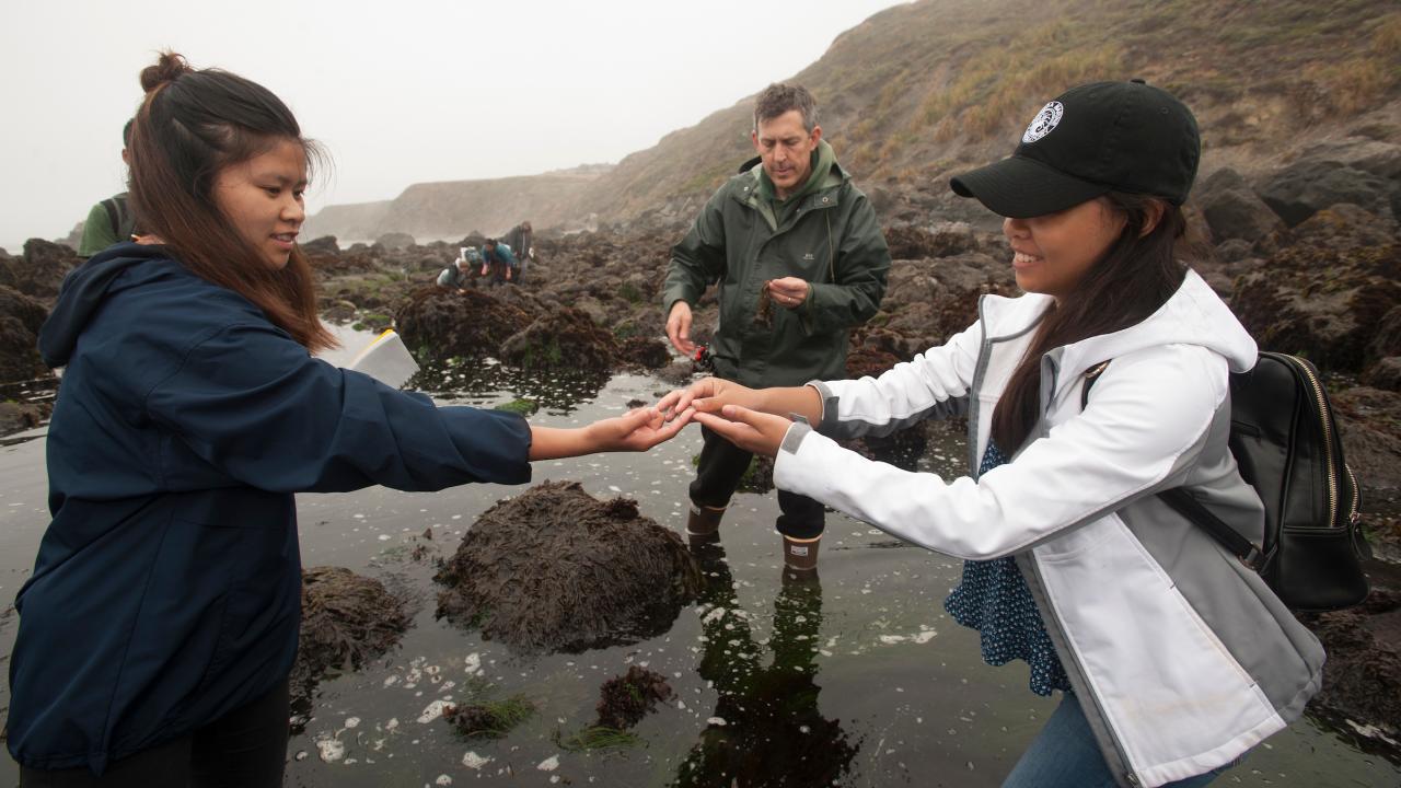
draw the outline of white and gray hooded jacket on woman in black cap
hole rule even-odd
[[[1258,575],[1156,492],[1187,485],[1257,541],[1259,498],[1227,449],[1227,372],[1255,342],[1194,272],[1138,325],[1041,360],[1041,422],[1010,463],[946,481],[842,449],[926,418],[968,416],[969,471],[1047,296],[985,296],[976,324],[878,379],[813,383],[820,433],[789,429],[773,480],[965,559],[1016,555],[1121,785],[1230,763],[1297,718],[1323,646]],[[1112,359],[1082,411],[1084,372]]]

